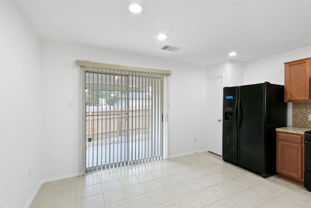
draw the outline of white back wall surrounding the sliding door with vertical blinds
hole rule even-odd
[[[171,70],[169,156],[206,149],[204,66],[43,41],[44,178],[78,173],[80,72],[75,65],[77,59]],[[67,100],[72,101],[72,107],[67,107]],[[194,137],[198,138],[197,143]]]

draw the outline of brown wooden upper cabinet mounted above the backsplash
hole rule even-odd
[[[286,62],[285,64],[285,102],[311,102],[310,69],[311,58]]]

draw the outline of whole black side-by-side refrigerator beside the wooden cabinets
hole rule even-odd
[[[224,88],[223,160],[267,178],[276,174],[276,128],[287,125],[284,86]]]

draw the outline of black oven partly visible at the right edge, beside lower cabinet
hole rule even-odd
[[[311,191],[311,131],[305,132],[305,187]]]

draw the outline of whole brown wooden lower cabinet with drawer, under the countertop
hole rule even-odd
[[[304,135],[276,132],[276,172],[278,177],[303,185]]]

